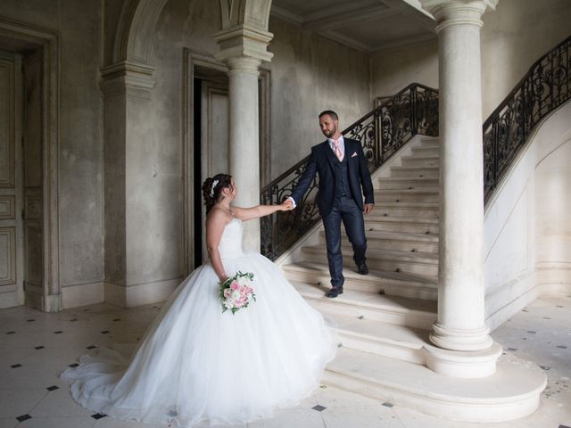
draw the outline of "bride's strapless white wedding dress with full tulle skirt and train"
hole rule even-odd
[[[62,374],[83,407],[118,419],[192,426],[239,424],[294,407],[319,386],[335,339],[279,268],[242,250],[242,222],[226,226],[219,252],[228,275],[252,272],[256,301],[222,313],[211,264],[170,297],[132,358],[103,348]]]

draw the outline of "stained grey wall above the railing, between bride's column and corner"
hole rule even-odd
[[[368,54],[270,17],[271,177],[324,141],[318,115],[336,111],[346,128],[371,110]]]

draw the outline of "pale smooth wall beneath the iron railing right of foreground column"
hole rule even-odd
[[[571,285],[571,103],[545,119],[485,212],[486,317],[492,327],[542,287]]]

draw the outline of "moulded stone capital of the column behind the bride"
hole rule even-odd
[[[262,61],[270,61],[274,56],[267,51],[269,41],[274,37],[269,31],[256,29],[244,25],[231,29],[223,29],[214,35],[214,40],[219,44],[220,50],[215,57],[223,62],[236,64],[236,59],[250,59],[258,62],[256,70]],[[240,60],[240,63],[244,61]],[[245,63],[245,62],[244,62]],[[239,68],[242,65],[238,66]]]

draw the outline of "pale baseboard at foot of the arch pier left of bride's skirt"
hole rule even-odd
[[[167,300],[183,278],[153,283],[120,285],[104,284],[104,301],[121,308],[136,308]]]

